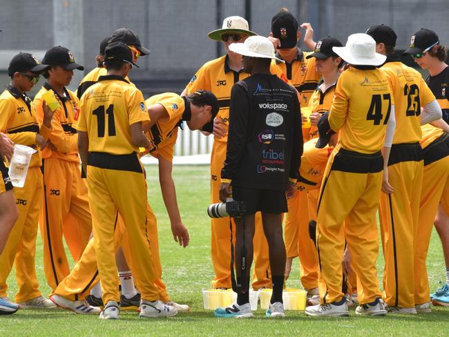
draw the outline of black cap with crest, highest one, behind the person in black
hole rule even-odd
[[[298,43],[298,20],[291,12],[280,10],[271,19],[271,33],[280,39],[280,49],[294,48]]]

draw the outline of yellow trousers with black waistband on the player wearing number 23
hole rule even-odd
[[[379,220],[385,258],[385,302],[392,307],[414,307],[414,244],[423,182],[419,143],[393,144],[388,162],[394,193],[381,193]]]

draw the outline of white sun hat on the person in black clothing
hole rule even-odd
[[[248,37],[242,44],[230,44],[229,50],[236,54],[249,57],[262,57],[263,59],[278,59],[274,54],[274,46],[267,37],[255,36]]]

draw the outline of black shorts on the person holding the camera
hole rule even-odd
[[[285,191],[232,186],[232,198],[245,202],[249,214],[258,211],[280,214],[288,211]]]

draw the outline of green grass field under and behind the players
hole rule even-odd
[[[163,278],[171,298],[191,306],[188,314],[174,318],[140,319],[137,312],[122,311],[120,320],[99,320],[97,316],[82,316],[62,309],[19,310],[11,316],[0,316],[0,336],[263,336],[267,334],[301,336],[448,336],[449,308],[434,308],[432,314],[388,316],[386,318],[357,317],[352,309],[350,318],[310,318],[302,311],[287,311],[283,320],[268,320],[259,309],[249,320],[216,319],[212,311],[202,309],[202,289],[210,287],[213,269],[210,258],[210,222],[206,207],[209,202],[209,166],[175,166],[173,176],[178,202],[191,243],[182,249],[173,241],[169,219],[164,209],[157,180],[157,167],[147,167],[149,201],[159,224]],[[37,276],[41,291],[48,296],[41,254],[37,244]],[[379,271],[383,259],[379,257]],[[301,288],[298,260],[287,287]],[[444,280],[444,262],[438,235],[432,234],[428,256],[430,288],[433,291]],[[9,296],[14,298],[15,277],[8,280]]]

